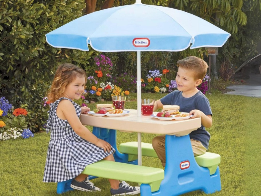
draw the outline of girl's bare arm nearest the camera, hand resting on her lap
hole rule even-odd
[[[88,130],[88,128],[82,125],[71,101],[67,99],[60,101],[56,113],[60,119],[67,120],[69,122],[70,126],[78,136],[88,142],[91,142],[92,144],[95,144],[96,146],[103,148],[105,152],[111,150],[111,145],[108,142],[97,138],[94,134],[92,134],[92,132],[90,132],[90,130]]]

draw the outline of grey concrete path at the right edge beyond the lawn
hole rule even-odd
[[[248,83],[248,85],[227,87],[227,89],[232,89],[234,91],[229,91],[225,94],[261,97],[261,74],[250,74],[250,79],[248,79],[246,83]]]

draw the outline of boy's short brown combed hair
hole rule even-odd
[[[188,56],[182,60],[178,60],[177,66],[178,67],[180,66],[181,68],[184,69],[192,70],[194,72],[195,80],[197,79],[203,80],[203,78],[207,73],[207,68],[208,68],[207,63],[203,59],[198,58],[196,56]]]

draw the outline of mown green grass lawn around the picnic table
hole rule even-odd
[[[126,108],[137,108],[135,96],[132,94]],[[213,112],[213,125],[207,129],[211,134],[208,151],[221,155],[222,190],[212,195],[260,195],[261,99],[220,93],[206,96]],[[142,97],[159,99],[163,95],[143,94]],[[95,104],[89,107],[93,109]],[[142,142],[151,142],[154,136],[142,134]],[[56,195],[57,183],[42,182],[49,140],[50,134],[38,133],[34,138],[0,141],[0,195]],[[137,133],[117,133],[117,145],[128,141],[137,141]],[[142,162],[145,166],[162,168],[157,158],[143,157]],[[88,195],[110,195],[106,179],[93,182],[102,192]],[[69,191],[62,195],[87,194]],[[184,195],[206,194],[193,191]]]

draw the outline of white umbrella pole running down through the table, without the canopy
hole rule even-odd
[[[137,111],[141,117],[141,51],[137,52]],[[138,133],[138,165],[141,165],[141,133]]]

